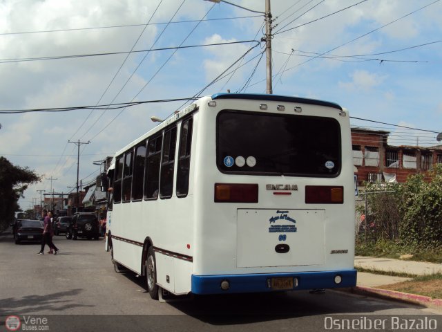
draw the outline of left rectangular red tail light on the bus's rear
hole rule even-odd
[[[215,183],[216,203],[258,203],[258,185]]]

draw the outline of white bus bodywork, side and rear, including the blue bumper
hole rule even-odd
[[[215,98],[216,106],[209,107],[211,98],[205,97],[194,103],[189,194],[178,198],[174,189],[171,199],[114,203],[109,231],[113,237],[114,258],[119,263],[143,273],[143,245],[149,238],[155,248],[157,284],[175,294],[275,291],[269,282],[280,280],[278,278],[291,279],[297,284],[293,289],[356,285],[354,166],[348,114],[343,116],[343,110],[336,104],[303,104],[302,98],[295,102],[296,98],[278,101],[277,96],[270,99],[265,95],[262,100],[258,96],[252,100],[231,100],[226,96]],[[267,104],[267,111],[261,111],[260,104]],[[296,107],[302,111],[297,113]],[[223,112],[235,114],[237,111],[245,115],[262,112],[332,119],[340,128],[340,171],[333,176],[222,171],[217,164],[217,121]],[[180,113],[177,117],[179,138]],[[170,124],[166,121],[157,129]],[[116,156],[155,135],[157,129],[135,140]],[[178,149],[177,143],[175,156]],[[175,185],[176,157],[174,171]],[[215,183],[258,185],[258,203],[215,202]],[[291,189],[275,194],[278,190],[268,190],[269,185]],[[343,203],[306,203],[307,186],[343,187]],[[335,278],[341,278],[342,282],[336,284]],[[227,291],[220,288],[225,279],[231,283]]]

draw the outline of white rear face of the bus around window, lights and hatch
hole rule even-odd
[[[268,108],[276,109],[276,104],[266,101]],[[204,104],[204,102],[201,102]],[[195,183],[195,241],[198,243],[193,259],[193,275],[218,275],[218,274],[246,274],[246,273],[287,273],[302,272],[306,266],[294,264],[292,266],[269,267],[269,264],[254,264],[255,267],[242,267],[238,264],[238,245],[247,246],[247,237],[244,243],[238,244],[238,210],[260,209],[269,210],[324,210],[323,233],[319,234],[324,238],[323,264],[308,266],[309,271],[352,269],[354,267],[354,180],[353,164],[351,157],[351,140],[348,116],[339,116],[339,111],[324,110],[316,105],[302,106],[302,115],[329,116],[336,119],[342,129],[342,168],[340,174],[334,178],[315,178],[298,176],[234,176],[222,174],[216,167],[216,150],[213,133],[216,132],[216,116],[223,109],[240,109],[245,111],[256,111],[260,103],[251,103],[248,100],[217,100],[215,109],[200,109],[201,122],[197,155],[195,156],[197,169],[204,169],[204,178],[212,181]],[[290,109],[286,105],[286,109]],[[296,116],[296,114],[294,114]],[[209,167],[208,167],[209,165]],[[253,203],[214,203],[214,183],[257,183],[259,186],[258,204]],[[290,196],[276,196],[273,192],[265,190],[267,184],[297,185],[298,191],[291,192]],[[306,185],[343,185],[345,205],[306,204]],[[241,227],[241,226],[240,226]],[[324,235],[325,234],[325,235]],[[251,237],[250,239],[253,239]],[[317,241],[317,240],[316,240]],[[331,252],[346,252],[332,254]],[[253,252],[249,252],[253,255]],[[282,254],[284,255],[284,254]],[[309,256],[309,248],[304,248],[302,255],[305,259],[318,257],[318,252]],[[300,257],[298,259],[301,259]],[[257,259],[258,260],[258,259]]]

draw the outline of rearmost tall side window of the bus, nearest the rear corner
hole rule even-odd
[[[177,197],[186,197],[189,192],[189,169],[191,165],[193,118],[181,123],[180,154],[177,169]]]

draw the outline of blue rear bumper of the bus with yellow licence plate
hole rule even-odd
[[[298,291],[352,286],[356,286],[355,269],[249,275],[192,275],[192,293],[200,295]]]

